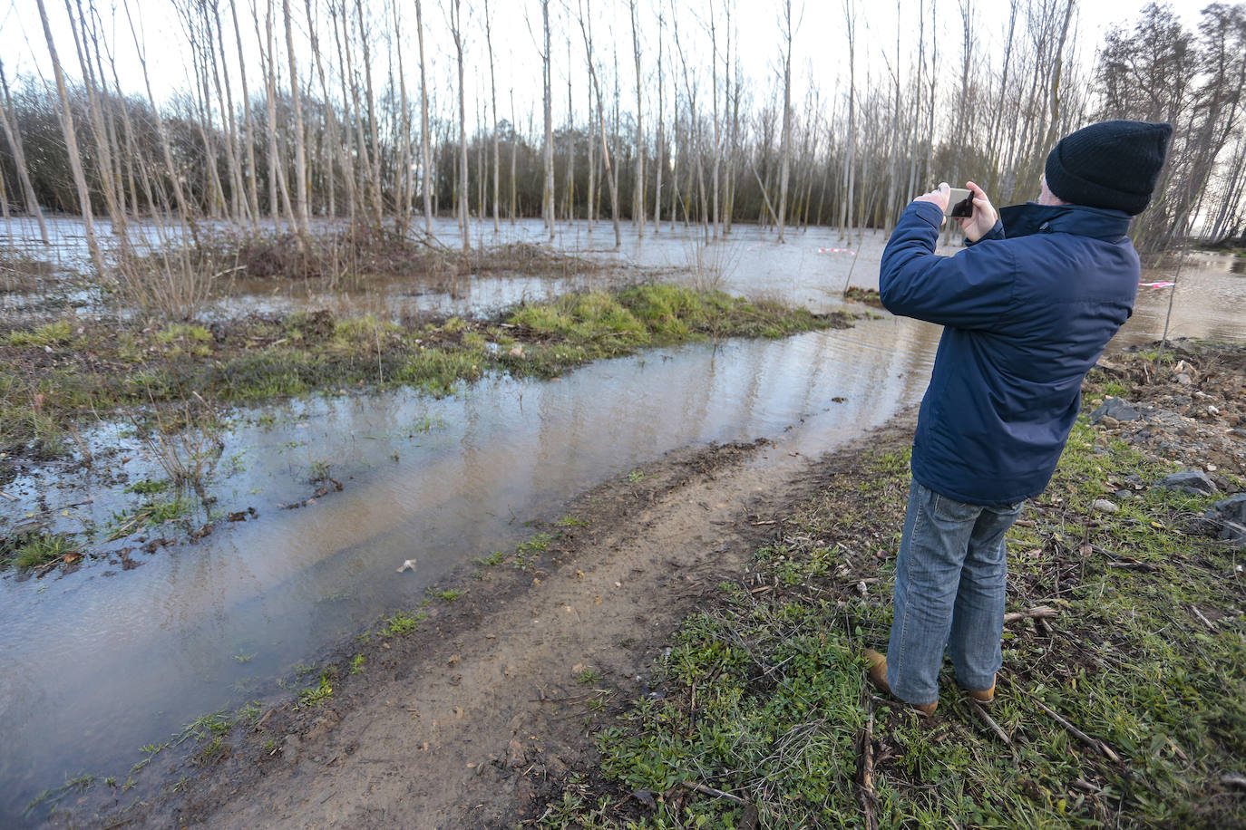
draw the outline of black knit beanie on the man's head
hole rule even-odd
[[[1151,200],[1172,126],[1100,121],[1062,138],[1047,156],[1047,188],[1058,198],[1136,217]]]

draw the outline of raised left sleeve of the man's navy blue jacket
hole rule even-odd
[[[882,305],[905,317],[998,331],[1012,306],[1017,273],[1008,245],[1001,244],[1002,233],[954,256],[938,256],[934,243],[941,218],[938,207],[925,202],[905,209],[882,251]]]

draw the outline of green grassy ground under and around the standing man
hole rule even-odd
[[[1168,462],[1078,423],[1009,539],[1008,610],[1058,616],[1006,628],[991,709],[1004,743],[947,667],[931,719],[865,683],[861,648],[885,647],[891,622],[907,462],[903,445],[878,447],[795,509],[749,574],[683,623],[649,679],[662,694],[598,733],[601,768],[541,826],[865,826],[867,730],[880,828],[1246,821],[1246,794],[1225,779],[1246,774],[1240,576],[1192,524],[1215,499],[1149,487]],[[1124,482],[1141,482],[1136,498],[1093,510]]]

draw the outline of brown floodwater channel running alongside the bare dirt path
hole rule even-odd
[[[657,350],[558,382],[492,380],[445,401],[309,402],[273,427],[238,428],[224,455],[245,469],[217,490],[258,520],[136,553],[143,564],[117,576],[91,565],[0,581],[0,815],[16,820],[80,773],[125,780],[138,747],[269,691],[383,611],[415,606],[456,566],[512,548],[523,520],[557,518],[572,494],[665,449],[770,436],[811,454],[882,423],[920,397],[936,338],[878,320]],[[279,509],[307,495],[299,479],[320,460],[344,490]],[[76,495],[60,490],[56,504]],[[399,575],[405,559],[419,567]]]

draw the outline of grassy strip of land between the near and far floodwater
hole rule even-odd
[[[0,340],[0,453],[56,455],[67,449],[64,433],[75,418],[172,407],[194,396],[254,403],[409,386],[442,397],[491,373],[554,377],[647,346],[844,325],[841,317],[668,285],[567,295],[493,321],[400,325],[325,311],[250,317],[212,331],[181,322],[118,329],[56,321]]]

